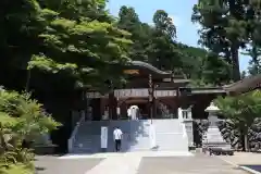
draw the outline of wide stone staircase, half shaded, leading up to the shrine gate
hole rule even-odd
[[[156,145],[154,150],[188,151],[188,139],[184,134],[181,121],[153,120]],[[114,151],[113,129],[119,126],[123,135],[122,151],[151,150],[150,120],[138,121],[92,121],[84,122],[78,127],[73,142],[72,153],[100,152],[101,127],[108,127],[108,149]]]

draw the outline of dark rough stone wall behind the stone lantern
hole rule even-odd
[[[194,141],[197,147],[201,147],[202,135],[207,132],[209,126],[208,120],[194,120]],[[234,128],[234,125],[228,120],[222,120],[219,122],[221,134],[227,142],[231,142],[232,147],[236,150],[243,150],[243,138],[238,130]],[[251,151],[261,149],[261,119],[256,119],[248,133],[249,148]]]

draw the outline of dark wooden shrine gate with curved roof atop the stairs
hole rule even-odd
[[[185,76],[160,71],[140,61],[133,61],[123,72],[128,75],[124,89],[114,89],[107,95],[86,92],[91,110],[89,119],[99,121],[105,114],[110,120],[127,119],[130,105],[138,105],[140,119],[174,119],[179,107],[191,107],[194,117],[203,119],[207,117],[203,110],[210,101],[217,95],[225,95],[222,87],[190,88],[190,80]]]

